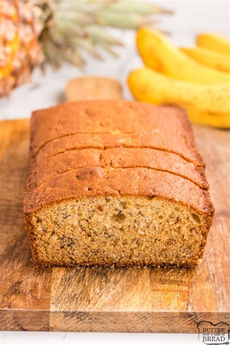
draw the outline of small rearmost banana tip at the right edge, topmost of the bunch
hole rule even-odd
[[[230,54],[230,40],[216,33],[200,33],[197,36],[197,46]]]

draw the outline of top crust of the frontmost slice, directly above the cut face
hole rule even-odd
[[[88,166],[56,175],[26,192],[24,212],[33,212],[61,200],[101,195],[158,196],[179,201],[200,213],[213,211],[209,192],[180,176],[148,168]]]

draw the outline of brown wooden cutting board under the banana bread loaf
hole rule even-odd
[[[29,120],[0,122],[0,329],[197,332],[230,322],[229,133],[195,127],[216,209],[196,269],[35,267],[22,202]]]

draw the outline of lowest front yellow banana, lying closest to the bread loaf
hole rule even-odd
[[[143,67],[131,72],[128,84],[136,99],[181,106],[191,121],[230,128],[230,86],[179,81]]]

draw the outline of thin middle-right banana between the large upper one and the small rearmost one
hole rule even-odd
[[[203,47],[187,48],[182,47],[180,50],[208,67],[230,73],[230,55],[218,51],[209,50]]]

